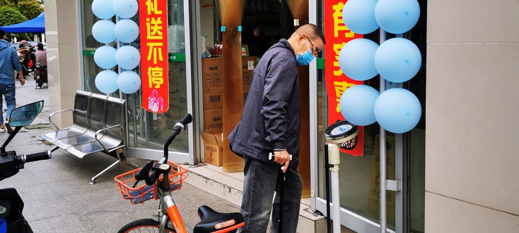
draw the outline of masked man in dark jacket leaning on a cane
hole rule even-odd
[[[303,189],[297,173],[301,127],[297,65],[308,65],[324,43],[321,29],[303,25],[289,39],[270,47],[252,73],[242,121],[228,136],[231,150],[245,160],[241,204],[245,226],[239,232],[266,232],[271,210],[271,232],[278,231],[274,223],[279,219],[280,200],[276,195],[273,204],[272,196],[281,188],[276,184],[279,172],[286,177],[283,232],[296,232]],[[268,158],[271,152],[274,161]]]

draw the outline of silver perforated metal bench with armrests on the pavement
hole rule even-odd
[[[47,132],[40,138],[56,145],[67,152],[83,158],[86,155],[104,152],[118,161],[92,177],[90,184],[95,184],[99,176],[106,174],[117,166],[125,163],[134,168],[139,166],[127,161],[124,156],[125,148],[125,100],[77,91],[74,109],[64,109],[49,115],[49,121],[56,131]],[[72,112],[73,124],[59,129],[52,116],[59,113]]]

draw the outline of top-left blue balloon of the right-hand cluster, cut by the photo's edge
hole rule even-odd
[[[379,28],[375,19],[377,0],[349,0],[344,4],[344,24],[354,33],[368,34]]]

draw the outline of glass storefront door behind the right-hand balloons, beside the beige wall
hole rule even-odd
[[[323,27],[324,4],[344,1],[310,0],[310,23]],[[388,232],[424,232],[425,213],[425,62],[426,62],[426,19],[427,1],[419,0],[421,17],[417,25],[403,36],[412,40],[422,53],[422,68],[411,80],[400,86],[412,91],[422,104],[422,118],[418,126],[404,134],[387,132],[387,180],[400,180],[400,191],[387,191],[387,227]],[[342,7],[340,7],[342,9]],[[342,12],[340,13],[342,16]],[[379,42],[379,33],[364,35],[365,38]],[[395,37],[388,34],[388,39]],[[328,38],[326,38],[327,41]],[[324,51],[334,52],[334,51]],[[324,56],[319,56],[320,58]],[[318,65],[318,63],[322,65]],[[319,68],[318,68],[319,67]],[[324,61],[310,65],[310,116],[311,156],[312,156],[312,209],[326,213],[324,174],[324,139],[323,130],[327,122],[329,108],[326,95],[326,76]],[[312,86],[313,85],[313,86]],[[364,85],[379,88],[379,77],[364,82]],[[388,82],[386,86],[392,85]],[[393,85],[394,86],[394,85]],[[335,103],[330,103],[335,104]],[[357,232],[380,232],[380,190],[379,190],[379,126],[377,123],[364,127],[364,155],[354,157],[346,153],[340,155],[340,221]],[[333,203],[332,203],[333,204]]]

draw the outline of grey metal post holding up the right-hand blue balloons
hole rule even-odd
[[[386,41],[386,31],[380,28],[380,44]],[[386,90],[386,80],[380,75],[380,94]],[[387,230],[386,204],[386,130],[380,126],[380,232]]]

